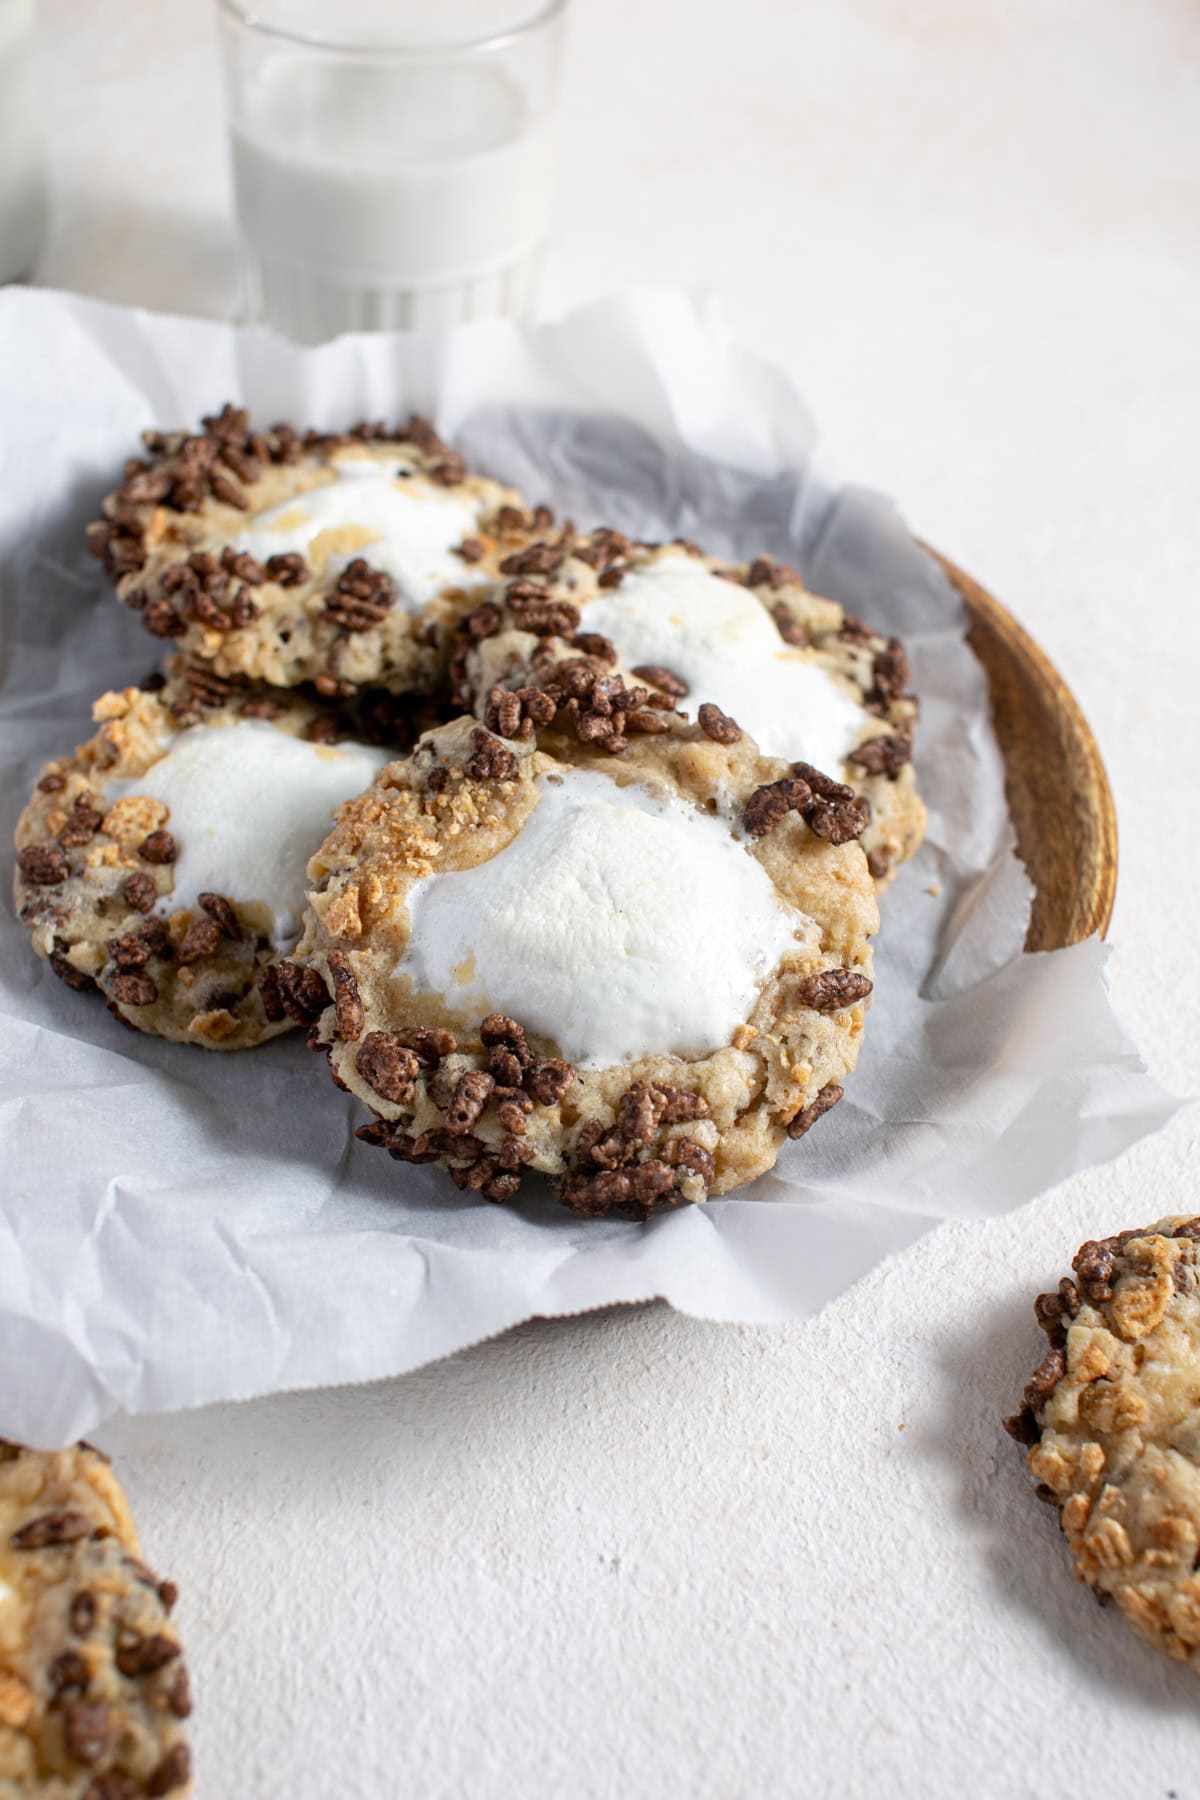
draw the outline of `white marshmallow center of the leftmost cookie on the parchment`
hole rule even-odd
[[[166,911],[194,907],[201,893],[257,900],[286,950],[300,936],[308,859],[335,808],[389,761],[365,743],[308,743],[263,720],[194,725],[144,776],[110,783],[108,797],[151,794],[169,808],[178,859]]]

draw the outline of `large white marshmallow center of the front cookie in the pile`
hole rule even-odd
[[[808,922],[729,826],[594,770],[543,776],[513,842],[408,896],[398,974],[513,1013],[581,1067],[729,1044]]]

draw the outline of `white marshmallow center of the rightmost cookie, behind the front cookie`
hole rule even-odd
[[[853,693],[783,643],[766,608],[738,581],[691,556],[660,556],[585,608],[626,668],[653,662],[687,682],[684,711],[712,700],[748,731],[765,756],[806,761],[835,779],[858,742],[864,711]]]

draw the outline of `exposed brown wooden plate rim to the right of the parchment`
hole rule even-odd
[[[1065,680],[986,589],[928,544],[972,616],[991,686],[1016,846],[1034,886],[1027,950],[1099,932],[1117,891],[1117,815],[1096,738]]]

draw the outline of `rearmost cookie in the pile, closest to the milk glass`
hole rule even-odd
[[[551,520],[417,418],[300,437],[225,407],[146,448],[88,531],[121,599],[218,675],[333,697],[432,689],[450,623]]]

